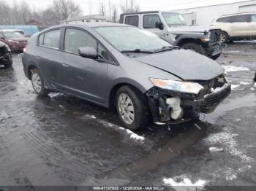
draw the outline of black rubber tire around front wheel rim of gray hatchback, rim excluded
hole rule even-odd
[[[131,124],[124,121],[121,116],[121,112],[118,109],[118,98],[121,96],[121,94],[128,95],[132,101],[134,107],[134,120]],[[125,85],[118,89],[116,93],[116,110],[121,122],[131,130],[147,128],[147,125],[150,122],[150,112],[148,109],[148,101],[146,96],[143,95],[143,93],[140,93],[140,91],[135,87]]]

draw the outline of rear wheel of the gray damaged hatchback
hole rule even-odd
[[[31,83],[37,95],[45,96],[48,95],[48,93],[50,93],[50,91],[45,88],[44,79],[42,78],[42,75],[40,74],[38,69],[32,70]]]

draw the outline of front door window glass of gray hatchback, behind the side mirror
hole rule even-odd
[[[64,50],[78,55],[79,47],[94,47],[97,50],[97,41],[85,31],[66,29]]]

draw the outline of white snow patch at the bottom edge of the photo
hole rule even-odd
[[[170,179],[163,179],[165,185],[173,187],[174,190],[203,190],[203,187],[208,181],[199,179],[197,182],[192,182],[187,176],[175,176]],[[175,188],[177,187],[177,189]]]

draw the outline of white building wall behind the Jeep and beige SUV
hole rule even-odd
[[[185,16],[185,20],[190,25],[194,23],[195,25],[210,25],[211,21],[215,17],[227,14],[233,14],[237,12],[256,12],[256,0],[244,1],[233,4],[219,4],[208,7],[197,7],[192,9],[179,9],[173,10],[173,12],[180,12]],[[190,17],[188,15],[191,15]],[[192,16],[194,15],[194,16]],[[195,20],[192,20],[195,17]]]

